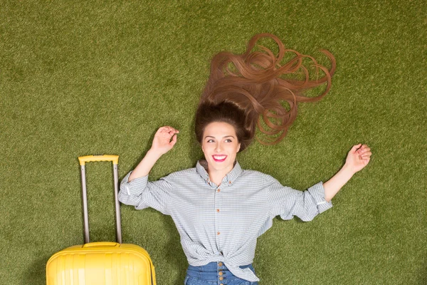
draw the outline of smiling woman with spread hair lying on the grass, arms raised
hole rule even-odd
[[[279,46],[278,56],[251,52],[258,38],[268,36]],[[196,167],[174,172],[149,182],[154,164],[176,143],[178,130],[166,126],[154,135],[151,149],[120,186],[119,199],[136,209],[152,207],[172,216],[189,261],[184,284],[258,284],[252,261],[257,238],[273,224],[273,218],[297,216],[311,221],[332,207],[331,199],[341,187],[362,170],[370,159],[367,145],[354,145],[339,172],[329,181],[302,192],[285,187],[270,175],[242,170],[237,152],[248,147],[258,126],[272,144],[282,140],[297,114],[297,102],[320,100],[330,89],[332,68],[320,66],[314,58],[297,51],[280,65],[286,51],[271,34],[258,34],[241,55],[218,53],[211,62],[211,75],[196,112],[196,138],[204,160]],[[303,58],[314,62],[325,76],[310,81]],[[231,70],[231,68],[233,70]],[[305,78],[283,78],[302,71]],[[326,83],[315,98],[302,92]],[[289,110],[283,107],[286,101]]]

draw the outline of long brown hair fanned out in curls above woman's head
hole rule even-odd
[[[277,56],[264,46],[260,48],[265,52],[252,51],[255,43],[262,37],[273,38],[278,44]],[[211,74],[196,112],[197,140],[201,142],[204,128],[209,123],[226,122],[235,128],[241,142],[241,150],[251,144],[257,125],[268,138],[257,138],[258,141],[265,145],[280,142],[297,116],[297,103],[320,100],[330,90],[336,67],[335,58],[329,51],[321,51],[330,58],[332,66],[329,70],[311,56],[286,49],[280,39],[271,33],[253,36],[243,54],[226,51],[216,54],[212,58]],[[292,52],[295,56],[285,64],[280,64],[287,52]],[[304,58],[312,61],[317,77],[319,70],[325,73],[325,76],[310,80],[309,69],[303,64]],[[297,77],[300,74],[303,75],[302,79],[284,78],[289,77],[288,75]],[[324,83],[325,90],[320,95],[303,95],[305,91]],[[288,103],[289,110],[283,103]]]

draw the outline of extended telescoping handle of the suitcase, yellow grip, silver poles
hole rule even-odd
[[[119,193],[119,171],[117,164],[119,163],[118,155],[87,155],[78,157],[80,161],[80,172],[82,174],[82,188],[83,188],[83,219],[85,223],[85,244],[90,242],[89,239],[89,218],[88,218],[88,195],[86,190],[86,162],[94,161],[111,161],[114,172],[114,198],[115,198],[115,214],[116,214],[116,229],[117,229],[117,242],[122,243],[122,225],[120,223],[120,203],[118,198]]]

